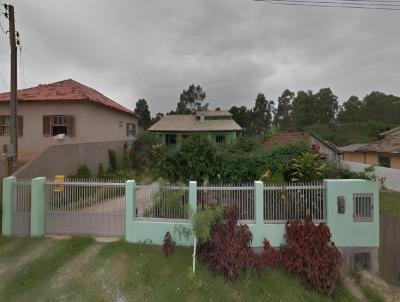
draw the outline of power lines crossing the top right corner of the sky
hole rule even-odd
[[[348,1],[307,1],[307,0],[253,0],[258,2],[268,2],[273,5],[284,6],[310,6],[310,7],[327,7],[327,8],[350,8],[350,9],[366,9],[366,10],[384,10],[384,11],[400,11],[400,7],[390,7],[383,4],[381,6],[369,6],[371,3],[351,3]],[[365,0],[362,0],[365,1]],[[323,3],[320,3],[323,2]],[[326,3],[325,3],[326,2]],[[354,2],[354,0],[352,0]],[[376,1],[375,1],[376,2]],[[400,2],[396,2],[400,3]]]

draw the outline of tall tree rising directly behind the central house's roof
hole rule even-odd
[[[203,105],[206,93],[200,85],[190,85],[187,90],[183,90],[176,105],[176,113],[188,114],[194,113],[196,110],[208,108],[208,103]]]

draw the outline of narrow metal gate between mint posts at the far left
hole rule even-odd
[[[12,185],[12,233],[29,236],[31,233],[31,182],[17,180]]]

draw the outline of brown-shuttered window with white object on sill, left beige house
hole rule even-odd
[[[55,136],[58,134],[75,135],[75,119],[72,115],[43,116],[43,135]]]

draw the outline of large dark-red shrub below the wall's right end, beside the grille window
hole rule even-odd
[[[340,280],[341,255],[325,223],[309,218],[286,223],[287,245],[281,247],[283,267],[306,288],[333,294]]]

